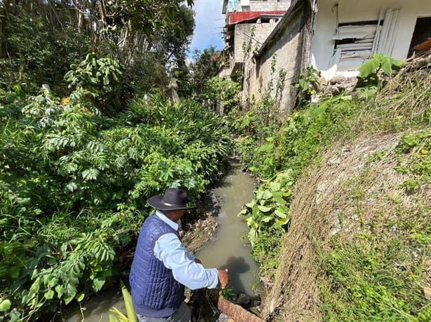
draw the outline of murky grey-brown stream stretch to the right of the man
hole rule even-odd
[[[204,267],[227,268],[235,293],[241,291],[250,296],[255,295],[252,286],[258,281],[259,267],[250,257],[246,222],[237,214],[251,202],[255,188],[256,181],[241,172],[240,165],[232,165],[231,172],[213,189],[220,200],[218,233],[196,254]]]

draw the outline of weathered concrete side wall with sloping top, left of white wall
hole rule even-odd
[[[296,102],[296,89],[291,83],[296,76],[301,17],[301,12],[296,13],[263,55],[246,61],[242,102],[258,102],[269,92],[276,99],[280,113],[291,113]],[[279,80],[281,73],[286,73],[284,82]]]

